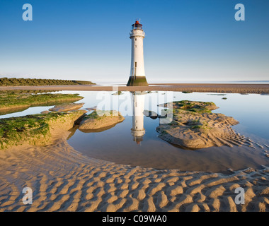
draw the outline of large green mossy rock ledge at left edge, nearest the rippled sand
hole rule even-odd
[[[1,119],[0,149],[13,145],[47,145],[74,126],[84,117],[84,110],[73,112],[50,112],[24,117]]]

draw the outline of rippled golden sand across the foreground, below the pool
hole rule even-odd
[[[0,152],[1,211],[268,211],[269,167],[230,174],[117,165],[78,153],[69,132]],[[33,189],[33,204],[22,202]],[[236,187],[246,191],[236,205]]]

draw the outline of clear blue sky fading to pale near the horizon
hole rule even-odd
[[[0,0],[0,77],[127,83],[137,18],[149,83],[269,80],[268,0]]]

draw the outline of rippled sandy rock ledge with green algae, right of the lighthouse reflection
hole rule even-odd
[[[163,110],[166,113],[173,111],[173,121],[170,124],[160,124],[156,128],[159,138],[164,141],[189,149],[251,145],[244,136],[231,129],[231,126],[239,124],[238,121],[224,114],[211,112],[217,109],[213,102],[183,100],[159,106],[168,107]]]

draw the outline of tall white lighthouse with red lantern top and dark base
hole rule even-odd
[[[142,24],[135,21],[130,32],[130,39],[132,40],[132,57],[131,57],[131,71],[127,86],[147,86],[147,79],[144,71],[144,50],[143,40],[145,32],[142,29]]]

